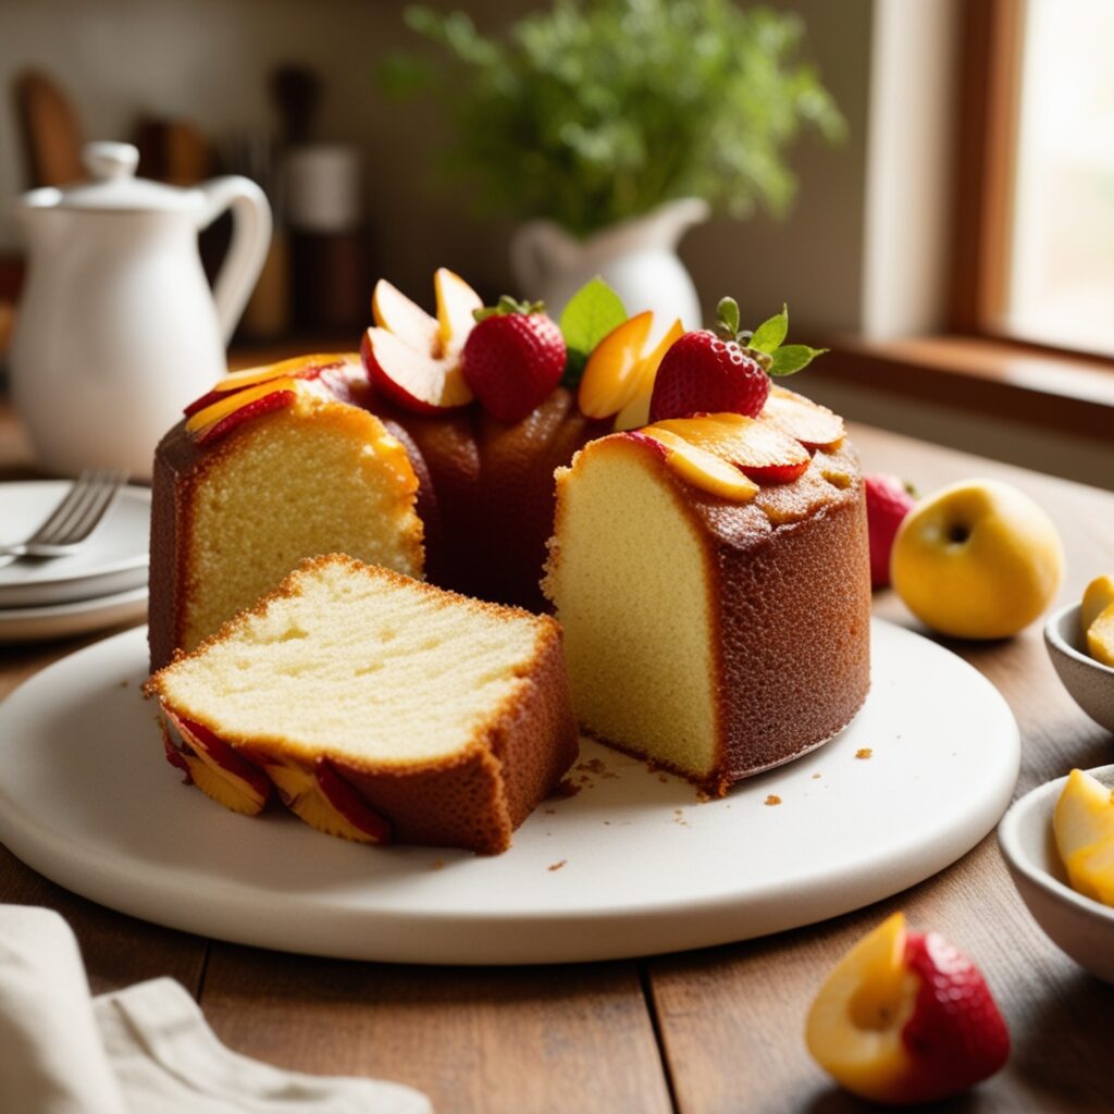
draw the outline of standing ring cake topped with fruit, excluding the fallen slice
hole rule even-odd
[[[228,377],[164,439],[153,668],[335,550],[555,608],[582,727],[709,793],[840,731],[869,684],[863,490],[842,420],[771,385],[813,354],[782,344],[785,312],[654,340],[652,314],[589,305],[574,390],[540,307],[480,310],[443,270],[434,285],[430,316],[380,282],[359,356]],[[536,803],[566,750],[524,755],[516,799]]]

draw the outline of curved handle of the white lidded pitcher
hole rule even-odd
[[[214,178],[202,187],[206,206],[201,227],[208,227],[225,209],[232,209],[232,244],[213,284],[213,301],[227,344],[244,312],[271,246],[271,206],[266,194],[240,175]]]

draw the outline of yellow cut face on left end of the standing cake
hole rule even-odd
[[[193,649],[305,557],[420,576],[413,490],[404,450],[362,410],[307,403],[253,421],[197,485],[178,645]]]

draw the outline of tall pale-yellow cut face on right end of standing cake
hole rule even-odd
[[[693,776],[715,764],[713,629],[700,537],[656,456],[596,441],[564,485],[547,595],[589,733]]]

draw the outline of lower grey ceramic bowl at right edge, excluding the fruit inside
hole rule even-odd
[[[1114,786],[1114,765],[1088,770]],[[1056,851],[1052,815],[1067,778],[1058,778],[1015,801],[998,824],[998,844],[1033,919],[1048,939],[1081,967],[1114,983],[1114,909],[1067,885]]]

